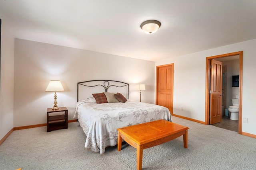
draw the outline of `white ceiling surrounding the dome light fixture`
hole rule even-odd
[[[0,0],[15,38],[158,61],[256,39],[256,0]],[[158,20],[146,34],[140,24]]]

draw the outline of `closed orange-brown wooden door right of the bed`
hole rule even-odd
[[[156,67],[156,104],[173,111],[173,70],[174,64]]]

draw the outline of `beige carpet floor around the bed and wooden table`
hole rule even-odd
[[[183,138],[143,150],[143,170],[256,170],[256,139],[178,117],[189,127]],[[14,131],[0,145],[0,170],[136,170],[136,149],[108,147],[102,155],[85,149],[78,122],[46,133],[46,127]]]

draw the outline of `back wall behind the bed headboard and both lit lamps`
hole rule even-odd
[[[118,80],[130,84],[129,99],[139,101],[134,84],[146,84],[142,101],[154,104],[155,62],[105,53],[15,39],[14,127],[46,123],[46,109],[54,92],[45,92],[50,80],[60,80],[58,107],[68,107],[73,119],[77,82]]]

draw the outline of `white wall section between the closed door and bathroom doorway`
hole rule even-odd
[[[157,61],[156,66],[170,63],[174,63],[173,113],[204,121],[197,112],[204,112],[205,96],[200,94],[205,90],[205,60],[200,55],[187,55]]]

